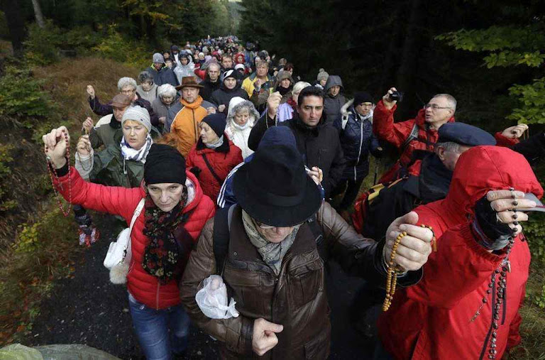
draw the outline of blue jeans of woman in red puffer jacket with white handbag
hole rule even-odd
[[[128,294],[133,327],[146,359],[167,360],[187,349],[189,315],[182,305],[155,310]]]

